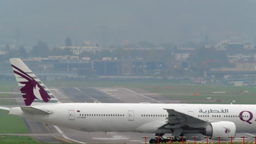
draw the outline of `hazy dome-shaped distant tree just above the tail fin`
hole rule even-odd
[[[31,55],[33,57],[48,57],[50,53],[48,45],[43,41],[38,41],[37,45],[33,46]]]

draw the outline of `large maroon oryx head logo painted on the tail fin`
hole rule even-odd
[[[45,92],[44,88],[39,85],[39,83],[34,80],[30,75],[26,74],[21,69],[15,67],[11,64],[11,67],[13,67],[16,70],[13,70],[15,74],[23,77],[27,81],[21,81],[21,84],[24,84],[25,86],[20,88],[22,97],[24,98],[26,106],[31,105],[34,101],[34,99],[44,100],[45,103],[49,101],[50,96],[47,92]]]

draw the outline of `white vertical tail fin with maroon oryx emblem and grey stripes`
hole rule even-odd
[[[10,58],[10,63],[26,106],[59,103],[53,93],[20,58]]]

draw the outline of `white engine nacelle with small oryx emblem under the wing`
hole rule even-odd
[[[236,135],[236,124],[233,122],[212,122],[205,127],[203,135],[211,136],[212,140],[229,140]]]

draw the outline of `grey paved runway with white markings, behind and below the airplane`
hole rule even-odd
[[[50,91],[61,101],[61,103],[180,103],[181,101],[170,100],[158,94],[150,94],[142,89],[127,88],[88,88],[88,87],[66,87],[50,88]],[[16,95],[21,97],[21,95]],[[24,101],[16,98],[19,105]],[[74,143],[140,143],[144,142],[143,136],[154,137],[154,134],[144,133],[88,133],[62,127],[54,127],[39,122],[25,119],[29,134],[34,139],[42,142],[74,142]],[[34,135],[33,135],[34,134]],[[41,135],[40,135],[41,134]],[[240,136],[247,136],[247,141],[254,141],[252,136],[256,134],[237,134],[236,141],[241,141]],[[165,136],[170,136],[166,134]],[[59,137],[60,139],[56,139]],[[66,140],[66,141],[65,141]]]

